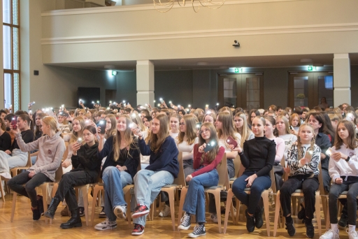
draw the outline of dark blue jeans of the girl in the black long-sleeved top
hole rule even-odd
[[[245,181],[245,179],[255,173],[256,172],[245,172],[240,178],[236,178],[232,184],[232,192],[235,194],[236,198],[241,201],[241,203],[248,207],[248,213],[251,215],[255,213],[257,205],[259,205],[262,191],[271,187],[270,176],[263,175],[257,177],[254,182],[252,182],[250,194],[246,194],[244,190],[248,182]]]

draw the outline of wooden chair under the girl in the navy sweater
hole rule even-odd
[[[160,191],[165,191],[169,196],[169,205],[171,208],[171,225],[173,226],[173,231],[176,231],[176,214],[175,214],[175,205],[174,205],[174,196],[176,190],[182,189],[185,187],[185,178],[184,178],[184,168],[182,164],[182,152],[178,154],[178,163],[179,163],[179,173],[178,178],[174,179],[173,184],[168,184],[162,187]],[[155,203],[152,203],[152,212],[155,210]]]

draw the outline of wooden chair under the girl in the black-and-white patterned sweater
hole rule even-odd
[[[318,165],[319,169],[321,169],[321,164]],[[284,173],[284,177],[285,180],[287,180],[288,175],[287,173]],[[320,191],[321,189],[323,189],[323,180],[322,180],[322,173],[319,173],[318,175],[318,182],[320,183],[320,187],[318,188],[318,190],[316,191],[315,194],[315,213],[316,213],[316,217],[317,217],[317,227],[318,227],[318,233],[320,234],[320,236],[322,235],[322,227],[321,227],[321,204],[320,204]],[[303,191],[301,189],[297,189],[296,191],[294,191],[294,193],[292,194],[292,196],[303,196]],[[278,226],[278,217],[280,216],[280,191],[277,192],[277,196],[276,196],[276,205],[275,205],[275,221],[274,221],[274,226],[273,226],[273,236],[276,236],[276,232],[277,232],[277,226]],[[281,222],[282,222],[282,227],[283,224],[285,223],[285,217],[281,217]]]

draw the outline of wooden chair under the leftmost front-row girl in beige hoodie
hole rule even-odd
[[[30,160],[31,161],[31,160]],[[55,187],[58,187],[58,183],[62,178],[62,166],[60,165],[59,168],[57,168],[57,171],[55,173],[55,182],[44,182],[37,188],[40,188],[43,194],[43,211],[46,212],[48,210],[48,185],[54,184],[54,189],[52,189],[52,195],[55,195]],[[56,190],[57,190],[56,187]],[[17,193],[14,191],[13,193],[13,205],[11,209],[11,219],[10,222],[13,222],[14,214],[15,214],[15,205],[16,205],[16,199],[17,199]],[[45,218],[45,223],[48,224],[48,219]],[[52,219],[50,219],[50,224],[52,224]]]

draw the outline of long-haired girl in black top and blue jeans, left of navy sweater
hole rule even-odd
[[[99,159],[107,157],[101,170],[105,191],[104,212],[106,220],[94,226],[96,230],[114,229],[116,218],[127,217],[127,203],[122,188],[133,184],[139,164],[138,140],[132,136],[129,124],[133,123],[128,115],[121,115],[117,121],[116,133],[104,143],[104,134],[99,128]]]

